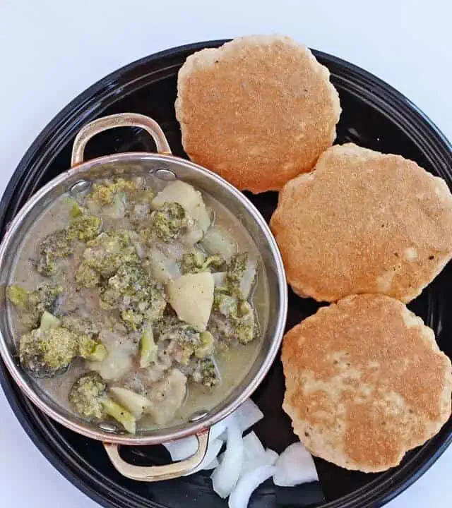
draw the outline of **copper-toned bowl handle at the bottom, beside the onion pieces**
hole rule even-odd
[[[133,466],[133,464],[129,464],[129,462],[121,459],[119,444],[109,442],[104,442],[103,444],[113,466],[117,468],[117,471],[122,476],[126,476],[126,478],[131,480],[154,482],[179,478],[179,476],[183,476],[198,467],[206,456],[209,432],[210,430],[208,429],[196,434],[198,449],[194,455],[183,461],[167,464],[166,466]]]

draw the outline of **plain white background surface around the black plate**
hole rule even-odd
[[[0,0],[0,192],[41,129],[102,76],[161,49],[282,33],[379,75],[452,138],[450,0]],[[0,390],[0,506],[95,507]],[[452,449],[391,508],[452,506]],[[7,501],[9,500],[9,501]]]

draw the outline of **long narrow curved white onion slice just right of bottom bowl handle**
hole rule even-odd
[[[235,487],[243,462],[243,439],[238,421],[232,418],[227,425],[226,452],[220,466],[211,476],[213,490],[223,499],[230,495]]]

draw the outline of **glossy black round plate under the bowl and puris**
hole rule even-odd
[[[174,116],[176,76],[179,67],[192,52],[216,47],[224,41],[202,42],[169,49],[131,63],[112,73],[73,100],[44,128],[25,157],[20,161],[0,202],[0,233],[18,212],[25,200],[54,176],[69,167],[71,145],[84,123],[98,116],[121,111],[135,111],[153,117],[162,126],[174,154],[184,156],[179,126]],[[439,130],[403,95],[373,75],[334,56],[315,52],[328,66],[331,80],[338,89],[343,114],[338,125],[338,143],[353,141],[364,147],[393,152],[418,162],[451,186],[452,152]],[[86,157],[113,152],[153,150],[153,143],[138,129],[109,131],[92,140]],[[276,205],[276,193],[249,196],[266,219]],[[452,265],[424,291],[410,308],[431,326],[439,346],[452,356],[452,314],[446,302],[452,300]],[[317,304],[290,294],[287,327],[314,313]],[[1,363],[1,384],[6,397],[27,433],[47,459],[83,492],[106,507],[222,507],[225,503],[212,494],[210,480],[204,473],[190,478],[158,484],[137,483],[117,473],[102,445],[90,442],[38,411],[20,393]],[[280,408],[283,399],[283,375],[276,362],[254,399],[266,418],[256,425],[256,433],[266,446],[280,452],[295,440],[290,423]],[[316,459],[321,487],[316,484],[297,492],[295,500],[285,499],[271,483],[262,485],[251,506],[273,507],[276,504],[310,504],[328,508],[380,506],[402,492],[419,478],[444,452],[452,439],[452,421],[423,447],[413,450],[403,464],[386,473],[364,474]],[[135,463],[160,461],[159,448],[136,447],[124,452]]]

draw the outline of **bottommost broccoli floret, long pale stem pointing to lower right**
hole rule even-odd
[[[136,432],[136,418],[107,396],[107,384],[97,373],[79,377],[69,392],[73,409],[85,418],[105,420],[112,416],[131,434]]]

